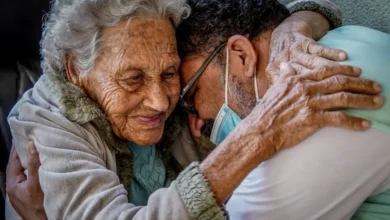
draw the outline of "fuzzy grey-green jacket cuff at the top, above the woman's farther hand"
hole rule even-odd
[[[335,3],[329,0],[297,0],[286,5],[291,13],[298,11],[313,11],[324,16],[331,29],[342,25],[342,12]]]

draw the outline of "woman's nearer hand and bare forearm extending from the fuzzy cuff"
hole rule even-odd
[[[381,86],[359,78],[359,68],[338,65],[297,75],[289,64],[281,66],[279,79],[262,102],[200,165],[219,204],[260,163],[320,128],[370,127],[368,121],[334,109],[377,109],[383,105],[383,98],[377,96]]]

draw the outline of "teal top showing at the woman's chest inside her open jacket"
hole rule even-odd
[[[145,206],[149,196],[160,188],[169,186],[161,154],[156,147],[140,147],[129,143],[134,155],[133,179],[129,190],[129,202],[136,206]]]

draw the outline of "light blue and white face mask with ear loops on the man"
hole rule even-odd
[[[254,84],[255,84],[255,93],[257,104],[260,103],[259,93],[257,89],[256,82],[256,70],[254,73]],[[229,133],[237,126],[241,121],[240,116],[237,115],[231,108],[228,106],[228,79],[229,79],[229,49],[227,49],[226,54],[226,71],[225,71],[225,103],[222,105],[221,110],[217,115],[217,118],[214,121],[213,129],[211,130],[210,141],[215,145],[220,144]]]

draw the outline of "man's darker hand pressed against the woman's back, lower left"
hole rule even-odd
[[[23,173],[15,146],[12,146],[7,167],[7,194],[12,207],[23,219],[47,219],[43,192],[39,184],[39,155],[33,142],[28,143],[28,177]]]

